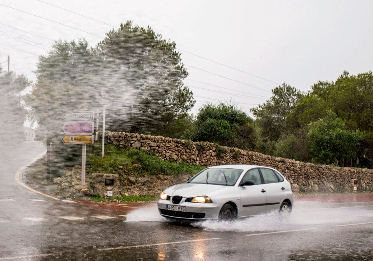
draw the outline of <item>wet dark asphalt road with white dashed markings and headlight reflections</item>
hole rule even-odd
[[[56,200],[14,177],[44,147],[0,160],[1,260],[373,260],[373,195],[303,196],[289,218],[166,222],[152,203]]]

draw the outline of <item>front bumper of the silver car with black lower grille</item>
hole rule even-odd
[[[157,205],[161,216],[189,221],[217,219],[219,217],[220,208],[222,207],[220,204],[216,203],[182,202],[180,204],[172,204],[169,200],[163,199],[159,199]],[[185,211],[167,210],[167,205],[185,207]]]

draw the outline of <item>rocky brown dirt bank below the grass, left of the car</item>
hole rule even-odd
[[[67,170],[61,177],[47,180],[46,169],[27,169],[22,174],[22,180],[31,188],[59,198],[90,198],[99,195],[101,198],[114,199],[120,196],[158,196],[169,186],[185,183],[189,175],[126,175],[119,180],[115,174],[86,174],[82,185],[81,167],[75,166]],[[106,181],[110,181],[107,185]],[[113,196],[107,196],[112,191]]]

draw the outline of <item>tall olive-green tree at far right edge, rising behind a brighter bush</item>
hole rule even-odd
[[[333,111],[349,131],[363,132],[357,156],[360,166],[373,168],[373,75],[372,72],[350,75],[344,71],[335,82],[314,84],[311,91],[288,116],[293,130],[305,129]]]

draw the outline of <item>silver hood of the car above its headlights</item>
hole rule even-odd
[[[164,193],[170,196],[183,196],[190,198],[195,196],[209,196],[212,192],[227,188],[222,185],[201,184],[201,183],[184,183],[178,184],[164,190]]]

